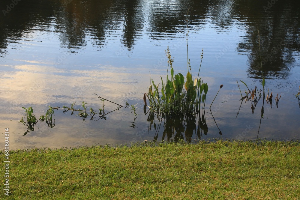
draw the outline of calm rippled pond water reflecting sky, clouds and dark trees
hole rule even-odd
[[[300,139],[300,102],[295,97],[300,85],[299,1],[16,2],[0,2],[1,143],[4,128],[9,128],[10,148],[115,145],[145,139]],[[187,73],[186,18],[194,73],[204,49],[200,75],[209,86],[206,124],[199,117],[162,119],[143,111],[149,71],[157,84],[160,76],[166,77],[167,46],[175,57],[175,73]],[[265,92],[273,93],[272,104],[262,98],[255,103],[241,101],[237,84],[243,93],[246,86],[241,81],[262,89],[258,29]],[[105,119],[96,114],[85,121],[63,112],[63,106],[76,102],[78,109],[82,101],[88,111],[92,107],[98,112],[102,101],[94,93],[123,107],[113,111],[116,104],[105,101],[104,111],[113,112]],[[136,119],[130,107],[135,104]],[[60,107],[52,128],[38,121],[34,131],[23,136],[28,129],[19,123],[25,114],[21,107],[32,106],[39,118],[49,105]]]

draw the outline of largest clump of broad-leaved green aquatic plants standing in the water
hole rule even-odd
[[[145,96],[147,96],[150,104],[149,108],[152,111],[158,111],[165,114],[198,113],[201,102],[202,108],[204,109],[205,107],[205,100],[208,91],[207,83],[203,83],[201,77],[199,78],[203,49],[198,75],[195,79],[192,78],[192,71],[189,62],[186,79],[181,73],[174,75],[174,59],[171,58],[169,47],[167,48],[166,54],[169,59],[166,82],[164,83],[163,78],[161,77],[162,85],[160,89],[159,84],[156,85],[150,77],[152,84],[149,87],[148,93],[144,94],[144,100],[146,98]],[[169,67],[171,68],[170,79],[168,74]]]

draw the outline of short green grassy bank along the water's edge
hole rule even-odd
[[[299,198],[299,142],[154,146],[10,151],[0,199]]]

